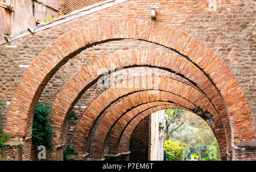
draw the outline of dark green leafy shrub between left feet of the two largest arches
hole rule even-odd
[[[51,147],[51,137],[53,135],[51,125],[48,121],[51,118],[51,107],[49,104],[38,103],[36,104],[33,126],[32,126],[32,141],[38,148],[40,145]]]

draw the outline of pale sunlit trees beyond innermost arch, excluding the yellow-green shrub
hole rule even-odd
[[[200,116],[171,108],[166,110],[166,140],[188,145],[186,158],[193,160],[218,160],[220,150],[209,125]],[[180,157],[179,157],[180,158]]]

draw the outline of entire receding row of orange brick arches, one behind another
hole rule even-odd
[[[218,140],[221,160],[226,160],[228,154],[236,160],[238,150],[234,145],[255,139],[253,117],[245,94],[228,66],[213,51],[162,23],[143,19],[102,20],[84,23],[75,31],[61,35],[35,58],[23,75],[11,102],[5,131],[26,141],[24,160],[32,159],[29,150],[33,114],[49,79],[84,49],[122,39],[162,45],[172,53],[123,50],[85,65],[73,74],[52,106],[50,124],[56,133],[52,139],[56,145],[53,160],[63,159],[68,116],[82,94],[105,73],[118,70],[125,75],[129,68],[157,68],[168,75],[120,81],[94,98],[73,132],[72,145],[80,154],[89,151],[91,158],[101,160],[109,154],[129,152],[130,136],[139,121],[152,112],[170,107],[191,111],[207,121]],[[106,140],[108,146],[105,146]]]

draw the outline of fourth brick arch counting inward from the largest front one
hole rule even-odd
[[[176,84],[174,83],[174,85]],[[186,91],[183,91],[183,89]],[[162,88],[159,90],[162,90]],[[94,159],[102,158],[104,153],[106,137],[108,136],[108,133],[112,128],[112,125],[115,123],[116,120],[118,120],[118,118],[120,118],[121,116],[129,116],[129,118],[132,118],[134,114],[129,112],[132,111],[133,108],[137,107],[139,104],[155,102],[159,100],[163,100],[166,102],[171,101],[176,104],[180,104],[181,106],[186,107],[191,111],[195,111],[196,108],[201,108],[202,111],[208,112],[211,115],[211,118],[208,119],[208,124],[210,125],[210,127],[212,127],[213,132],[216,133],[217,140],[222,142],[222,145],[226,147],[223,125],[220,121],[220,118],[217,115],[217,112],[214,110],[210,110],[211,107],[209,104],[205,106],[205,104],[207,104],[205,103],[207,100],[205,100],[200,94],[197,94],[195,89],[191,89],[191,87],[188,88],[184,85],[181,86],[179,89],[170,89],[168,91],[170,92],[155,90],[139,91],[137,93],[128,95],[123,100],[119,100],[115,104],[115,106],[109,112],[106,113],[104,118],[101,120],[101,123],[98,125],[96,132],[94,133],[94,137],[92,139],[92,144],[90,146],[90,157]],[[183,94],[182,91],[183,93],[185,92],[185,94]],[[90,121],[88,116],[88,114],[83,114],[81,120],[79,121],[79,123],[77,123],[76,127],[79,129],[84,128],[80,125],[82,124],[86,126],[86,121]],[[80,137],[86,135],[88,135],[86,132],[79,133]],[[77,142],[77,145],[81,144],[81,142]]]

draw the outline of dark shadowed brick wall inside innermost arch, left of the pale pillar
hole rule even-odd
[[[130,141],[130,160],[147,161],[150,157],[150,116],[143,119],[134,129]]]

